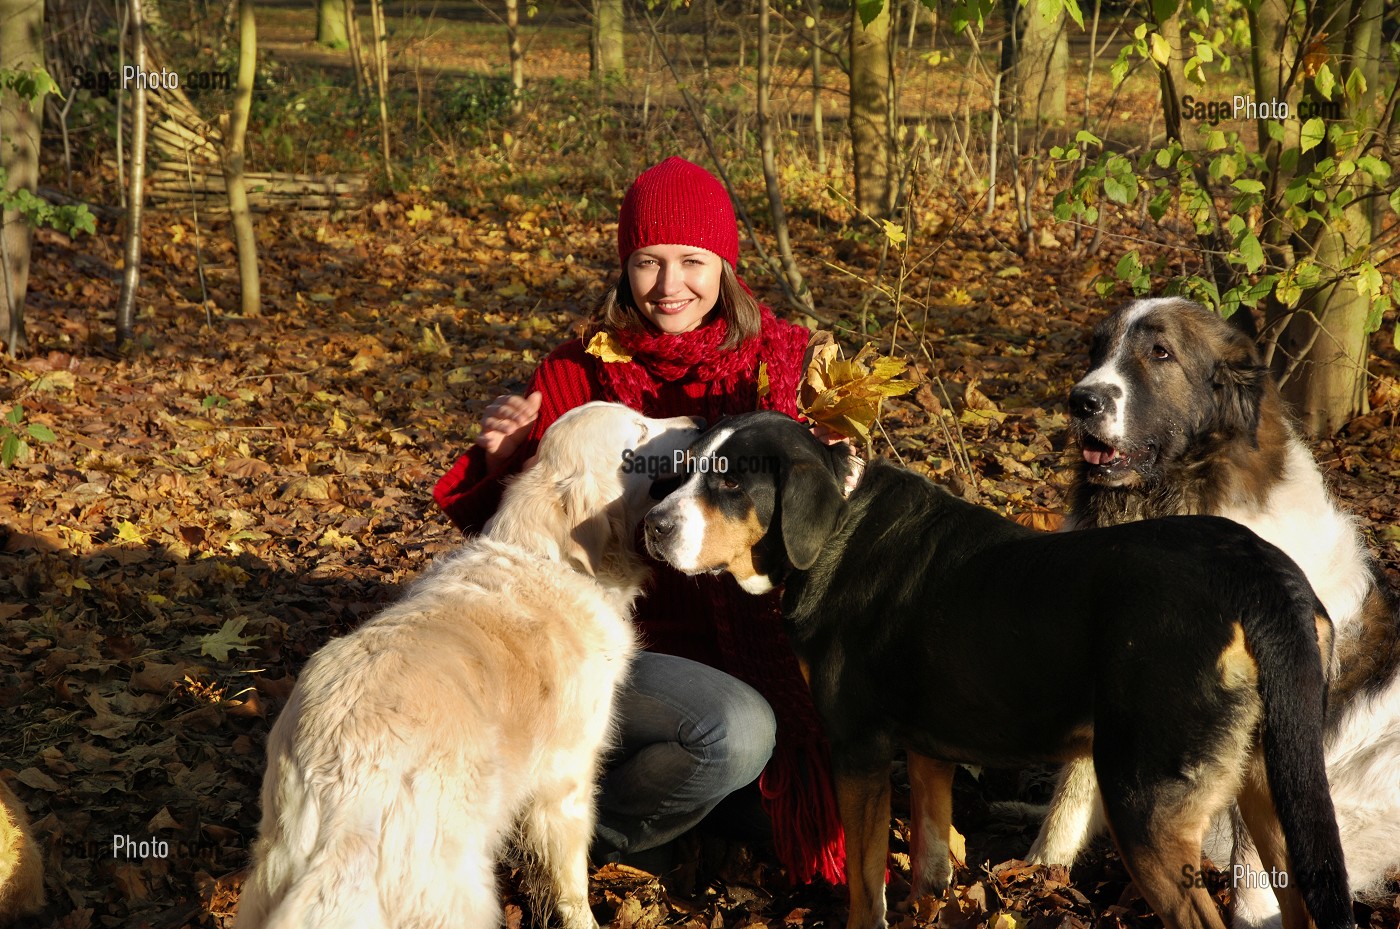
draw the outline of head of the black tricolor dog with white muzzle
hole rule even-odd
[[[811,568],[840,529],[854,467],[847,446],[822,445],[781,413],[721,420],[647,515],[647,550],[686,574],[728,571],[766,593],[790,568]]]

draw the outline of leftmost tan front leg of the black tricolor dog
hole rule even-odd
[[[837,772],[836,802],[846,830],[846,929],[883,929],[885,865],[889,858],[889,771]]]

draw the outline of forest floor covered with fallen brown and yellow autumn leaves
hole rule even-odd
[[[293,27],[304,29],[307,14],[280,8],[263,27],[288,74],[321,55]],[[577,59],[577,42],[566,52]],[[430,60],[456,56],[469,70],[473,55],[498,62],[468,45],[431,49]],[[290,146],[312,169],[372,171],[372,123],[347,105],[335,137],[316,87],[263,99],[255,155],[286,162]],[[636,111],[588,95],[559,80],[514,122],[491,116],[455,143],[423,141],[417,173],[360,208],[259,215],[259,316],[237,312],[225,224],[148,213],[140,344],[125,355],[109,348],[122,224],[104,218],[97,235],[71,241],[38,234],[31,351],[0,360],[0,409],[56,435],[0,469],[0,774],[45,849],[49,904],[32,925],[231,925],[266,735],[297,672],[458,544],[433,483],[470,444],[483,406],[521,389],[589,318],[616,263],[612,217],[627,182],[666,154],[703,161],[673,102],[657,102],[643,132]],[[1138,105],[1128,99],[1120,122]],[[414,132],[406,125],[403,137],[428,136]],[[731,126],[721,151],[742,165],[741,201],[766,215],[748,144]],[[818,318],[783,306],[752,242],[741,271],[780,313],[910,361],[921,386],[888,402],[872,453],[1008,515],[1053,520],[1070,463],[1064,397],[1085,369],[1089,329],[1124,297],[1103,298],[1093,283],[1127,248],[1144,248],[1130,243],[1144,229],[1109,228],[1095,255],[1049,218],[1026,236],[1009,199],[984,217],[984,186],[945,147],[913,178],[909,241],[888,248],[851,211],[837,168],[823,178],[792,159],[792,239]],[[84,196],[115,206],[111,168],[94,159],[84,176]],[[1049,194],[1037,196],[1046,207]],[[759,239],[771,249],[766,225]],[[1373,411],[1315,448],[1400,582],[1400,357],[1389,326],[1375,340]],[[1026,590],[1028,607],[1042,596],[1054,592]],[[966,866],[911,922],[1161,925],[1106,846],[1072,874],[1016,860],[1036,825],[990,804],[1042,802],[1047,778],[959,774]],[[897,886],[907,795],[896,807]],[[130,845],[141,841],[167,853],[139,855]],[[686,845],[683,863],[665,884],[596,872],[599,919],[616,929],[844,922],[840,891],[791,887],[762,848],[707,837]],[[1224,898],[1222,883],[1217,874]],[[503,874],[511,929],[529,918],[514,887]],[[1393,900],[1358,904],[1357,915],[1375,929],[1400,925]]]

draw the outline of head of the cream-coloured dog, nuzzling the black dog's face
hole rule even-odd
[[[505,488],[486,533],[599,579],[636,583],[633,536],[655,502],[651,481],[672,470],[701,427],[620,403],[575,407],[545,431],[538,460]]]

